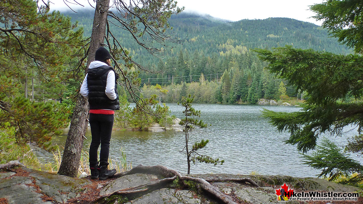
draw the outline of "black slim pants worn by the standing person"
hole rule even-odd
[[[109,165],[110,140],[114,115],[94,114],[90,113],[90,126],[92,134],[92,142],[90,145],[90,166],[95,166],[97,162],[97,150],[101,144],[99,153],[99,166]]]

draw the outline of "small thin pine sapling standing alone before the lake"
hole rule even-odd
[[[193,163],[198,162],[205,162],[205,163],[212,163],[214,165],[220,164],[223,165],[224,160],[213,159],[207,155],[202,155],[197,153],[197,150],[202,149],[207,145],[209,140],[201,140],[200,142],[195,142],[192,146],[192,149],[189,150],[188,142],[189,142],[189,132],[193,130],[196,126],[199,128],[207,128],[207,124],[205,124],[202,120],[199,120],[195,117],[200,117],[200,111],[195,110],[192,108],[192,103],[194,101],[194,96],[191,97],[189,95],[188,97],[181,97],[181,104],[178,102],[178,105],[181,107],[184,107],[185,110],[183,111],[185,118],[181,119],[179,122],[179,125],[183,125],[183,131],[185,133],[185,146],[183,150],[181,150],[181,153],[184,153],[187,155],[187,161],[188,161],[188,174],[190,174],[190,162]]]

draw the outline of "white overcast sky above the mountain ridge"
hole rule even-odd
[[[63,0],[50,1],[53,3],[53,5],[51,4],[53,9],[63,11],[68,9]],[[88,5],[86,0],[77,0],[77,2]],[[322,2],[323,0],[178,0],[178,5],[179,7],[184,6],[185,11],[206,13],[231,21],[287,17],[321,25],[321,22],[310,18],[314,16],[314,13],[309,11],[309,5]],[[68,5],[72,8],[79,8],[76,5]]]

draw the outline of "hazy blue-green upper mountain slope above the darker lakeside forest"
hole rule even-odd
[[[85,35],[90,36],[93,11],[65,13],[73,21],[79,21],[79,26],[85,28]],[[351,49],[339,45],[336,38],[331,38],[326,29],[309,22],[302,22],[290,18],[267,18],[264,20],[241,20],[229,22],[213,18],[208,15],[180,13],[169,20],[174,27],[172,32],[184,39],[184,45],[176,45],[172,51],[163,53],[176,56],[180,50],[189,53],[197,50],[205,55],[218,55],[241,46],[243,49],[278,47],[293,45],[302,49],[315,49],[333,53],[348,54]],[[122,39],[123,46],[128,48],[134,58],[143,63],[156,63],[157,58],[142,50],[125,30],[111,25],[114,34]],[[169,46],[173,46],[168,44]],[[175,46],[175,45],[174,45]],[[240,49],[242,49],[240,47]]]

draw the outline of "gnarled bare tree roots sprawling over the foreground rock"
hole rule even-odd
[[[143,166],[139,165],[134,168],[132,168],[130,171],[118,173],[114,175],[114,178],[119,178],[121,176],[130,175],[130,174],[153,174],[153,175],[160,175],[165,177],[164,179],[160,179],[156,182],[148,183],[142,186],[137,186],[134,188],[129,189],[123,189],[121,191],[116,191],[111,194],[103,195],[97,197],[97,199],[94,201],[95,203],[103,203],[107,198],[114,196],[114,195],[122,195],[125,197],[131,197],[133,195],[139,195],[142,192],[146,191],[154,191],[160,188],[166,187],[169,183],[173,182],[175,179],[179,179],[179,182],[183,184],[184,186],[187,186],[184,182],[185,181],[192,181],[197,184],[197,187],[201,189],[202,191],[206,192],[209,195],[214,196],[217,200],[219,200],[219,203],[223,204],[237,204],[233,201],[233,199],[225,195],[223,192],[219,190],[219,188],[212,186],[210,183],[208,183],[207,180],[201,179],[201,178],[194,178],[191,176],[183,176],[178,171],[170,170],[167,167],[164,167],[162,165],[156,165],[156,166]],[[248,182],[252,184],[253,186],[258,187],[257,183],[254,182],[252,179],[246,178],[246,179],[210,179],[210,182]]]

